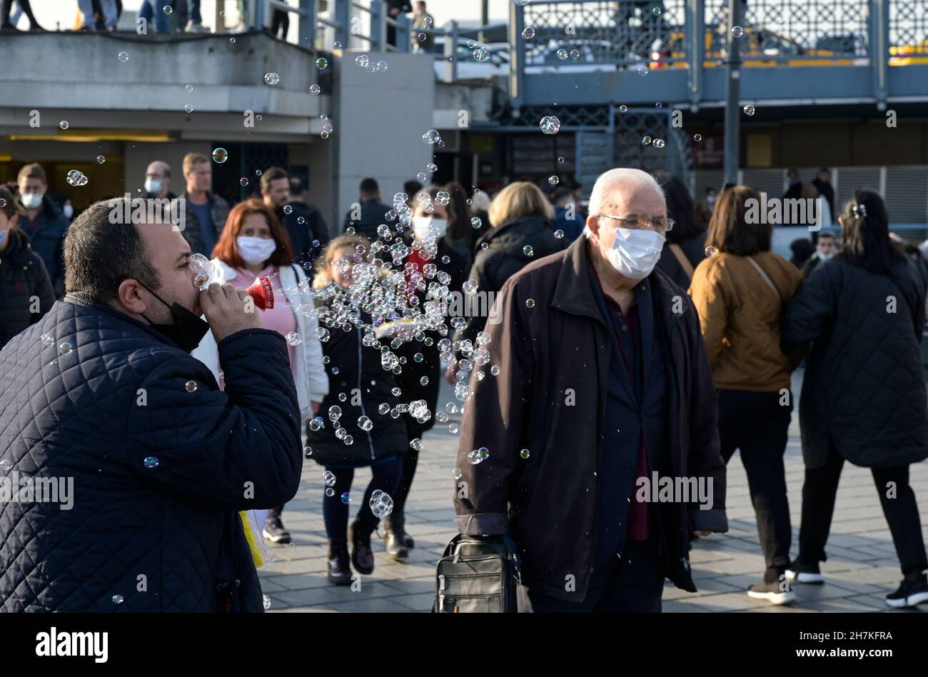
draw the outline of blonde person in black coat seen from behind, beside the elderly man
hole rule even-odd
[[[477,303],[466,307],[467,321],[455,334],[456,341],[476,341],[506,280],[532,261],[564,249],[563,239],[556,238],[551,229],[552,215],[548,198],[533,183],[516,181],[499,191],[490,204],[493,229],[477,241],[470,267],[469,280],[476,281],[477,292],[468,296]],[[449,380],[453,380],[451,371],[456,370],[449,370]]]

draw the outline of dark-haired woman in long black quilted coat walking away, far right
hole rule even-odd
[[[841,252],[812,271],[783,319],[784,347],[812,342],[799,425],[806,482],[799,556],[787,576],[824,579],[844,461],[870,468],[904,579],[890,606],[928,600],[922,523],[909,464],[928,458],[922,371],[925,280],[889,239],[883,199],[857,190],[839,217]]]

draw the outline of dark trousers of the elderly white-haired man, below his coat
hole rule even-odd
[[[566,602],[524,587],[517,592],[521,612],[659,614],[664,567],[657,540],[626,541],[622,557],[612,557],[609,564],[594,569],[582,602]]]

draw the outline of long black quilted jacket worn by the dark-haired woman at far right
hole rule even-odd
[[[849,462],[870,468],[928,458],[928,400],[922,368],[925,283],[900,260],[893,278],[839,254],[818,264],[790,301],[782,343],[812,342],[799,425],[810,468],[828,438]]]

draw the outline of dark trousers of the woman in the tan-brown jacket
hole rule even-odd
[[[781,405],[779,392],[718,392],[722,458],[728,463],[735,449],[741,451],[757,518],[757,535],[767,564],[764,580],[768,583],[778,581],[790,566],[793,531],[783,454],[792,410],[792,397],[789,406]]]

